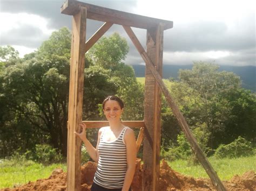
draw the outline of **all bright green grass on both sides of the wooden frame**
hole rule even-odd
[[[221,180],[230,180],[235,174],[242,175],[247,171],[256,171],[256,156],[237,159],[215,159],[210,157],[209,160]],[[171,168],[181,174],[194,178],[208,178],[200,165],[188,165],[185,160],[168,163]],[[66,172],[66,164],[44,166],[32,161],[0,160],[0,189],[48,178],[55,168],[62,168]]]

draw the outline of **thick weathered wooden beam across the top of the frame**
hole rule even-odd
[[[157,27],[159,23],[163,23],[164,30],[171,29],[173,27],[173,22],[170,20],[145,17],[78,1],[65,2],[62,5],[60,12],[65,15],[75,15],[78,12],[79,7],[87,8],[87,18],[99,20],[101,22],[137,27],[140,29]]]

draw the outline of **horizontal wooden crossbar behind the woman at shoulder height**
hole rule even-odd
[[[83,121],[87,128],[102,128],[109,126],[109,121]],[[144,121],[122,121],[122,124],[129,126],[129,128],[143,128],[145,127]]]

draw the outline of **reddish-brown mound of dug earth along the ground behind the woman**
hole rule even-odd
[[[92,185],[93,176],[96,172],[97,164],[87,162],[81,167],[81,190],[89,191]],[[140,159],[137,160],[136,172],[132,182],[132,190],[142,190],[143,165]],[[214,190],[212,183],[208,179],[194,179],[181,175],[168,166],[164,160],[160,165],[159,190]],[[253,171],[246,172],[242,176],[235,175],[231,181],[224,181],[227,190],[256,190],[256,174]],[[2,191],[25,191],[25,190],[66,190],[66,173],[62,169],[55,169],[48,179],[39,179],[36,182],[29,182],[21,187],[13,189],[5,188]]]

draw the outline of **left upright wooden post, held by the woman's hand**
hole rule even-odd
[[[72,18],[70,61],[69,116],[68,116],[68,174],[67,190],[80,190],[81,141],[74,134],[82,122],[84,87],[84,52],[86,34],[86,8],[80,8]]]

